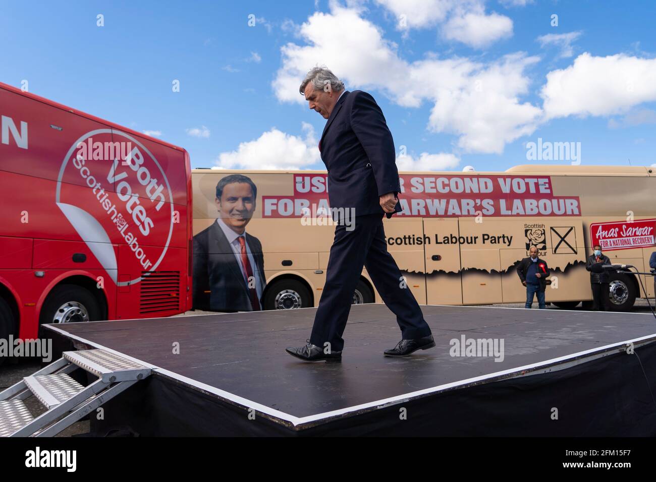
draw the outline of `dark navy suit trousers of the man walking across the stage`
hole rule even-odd
[[[413,340],[431,334],[415,296],[387,251],[382,216],[384,214],[356,216],[353,230],[346,230],[343,221],[335,226],[326,283],[314,317],[310,343],[325,348],[328,342],[331,351],[342,351],[342,334],[363,266],[382,301],[396,315],[402,338]]]

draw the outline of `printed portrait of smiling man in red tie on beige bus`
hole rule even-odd
[[[194,309],[262,310],[262,244],[246,232],[257,188],[251,178],[232,174],[216,184],[219,216],[194,236]]]

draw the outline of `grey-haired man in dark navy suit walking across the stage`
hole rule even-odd
[[[310,340],[287,353],[304,361],[342,360],[342,334],[363,266],[401,328],[402,340],[384,355],[403,357],[432,348],[435,342],[419,304],[387,251],[382,216],[401,211],[401,188],[394,140],[382,111],[371,95],[344,90],[344,83],[325,68],[310,70],[299,91],[310,109],[327,119],[319,151],[338,224]],[[349,214],[355,222],[347,228]]]

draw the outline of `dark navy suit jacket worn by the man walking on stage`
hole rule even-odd
[[[367,92],[346,90],[340,96],[323,128],[319,151],[328,170],[331,208],[355,208],[356,216],[382,214],[379,196],[401,190],[392,133]],[[394,212],[400,211],[396,203]]]

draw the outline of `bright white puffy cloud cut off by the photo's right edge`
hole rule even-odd
[[[656,59],[585,52],[571,66],[549,72],[541,96],[546,119],[623,114],[656,100]]]

